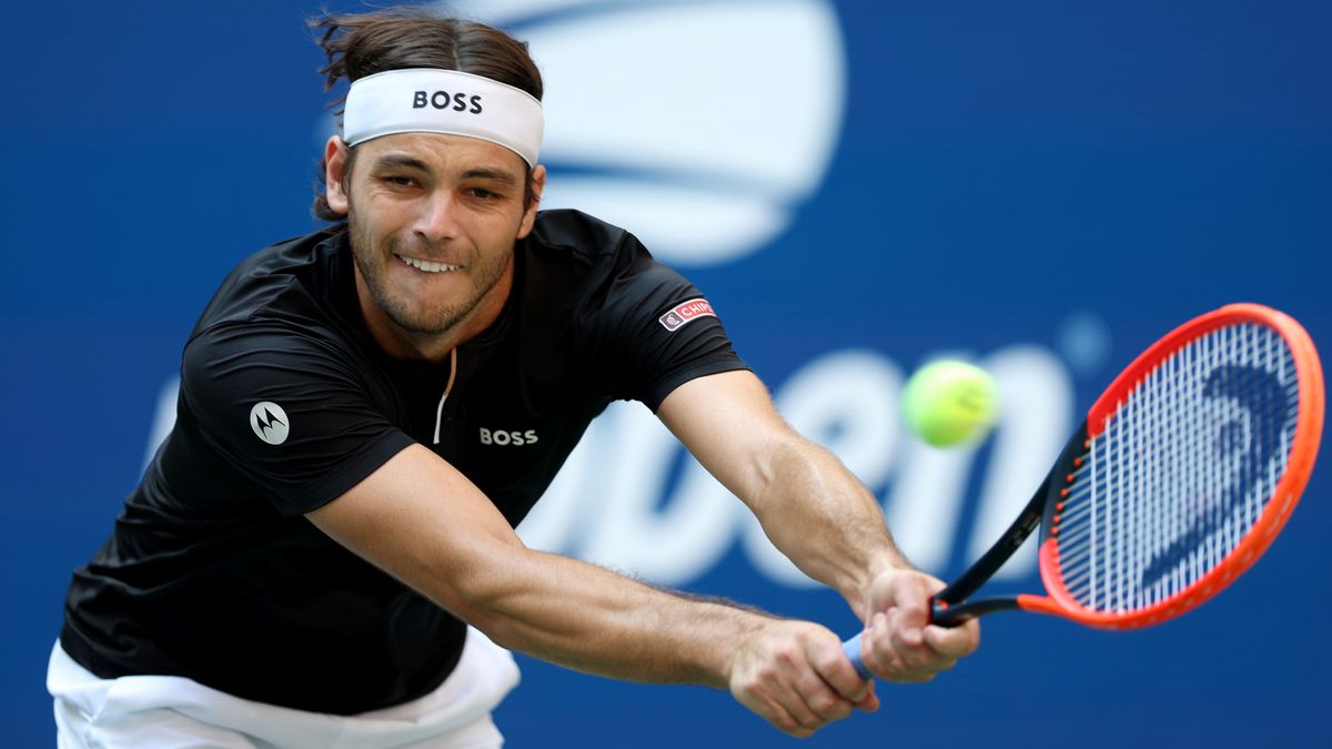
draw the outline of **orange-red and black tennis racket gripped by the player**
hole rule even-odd
[[[1012,526],[931,598],[931,621],[1022,609],[1135,629],[1196,608],[1291,517],[1323,400],[1317,351],[1291,317],[1232,304],[1180,325],[1092,404]],[[1038,525],[1047,594],[968,600]],[[860,636],[843,649],[868,678]]]

